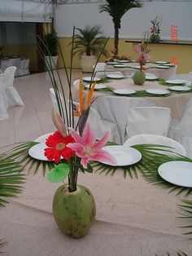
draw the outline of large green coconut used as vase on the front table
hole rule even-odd
[[[53,215],[59,229],[74,237],[85,236],[94,222],[96,205],[88,188],[78,185],[75,192],[68,184],[59,187],[53,200]]]

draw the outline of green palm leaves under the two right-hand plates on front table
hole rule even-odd
[[[168,188],[169,192],[177,192],[178,194],[185,193],[185,196],[192,194],[192,188],[183,188],[166,182],[159,176],[158,168],[164,162],[167,161],[192,161],[190,158],[182,157],[172,152],[172,148],[155,146],[154,144],[142,144],[135,145],[132,148],[137,149],[142,153],[141,161],[132,166],[107,166],[99,162],[94,162],[92,166],[95,172],[99,174],[115,174],[116,171],[123,170],[124,178],[128,175],[131,179],[137,178],[138,174],[142,174],[142,177],[149,183]]]

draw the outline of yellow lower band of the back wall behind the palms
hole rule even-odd
[[[138,55],[134,51],[136,43],[133,42],[124,42],[126,39],[120,39],[119,42],[119,55],[129,55],[132,60],[137,60]],[[71,38],[59,38],[59,44],[62,48],[64,58],[66,60],[67,67],[70,63],[70,51],[71,46],[68,46],[68,43],[71,42]],[[189,45],[178,45],[177,49],[172,48],[170,44],[155,44],[150,43],[148,47],[151,49],[151,61],[157,60],[167,60],[170,61],[173,57],[177,57],[178,60],[178,69],[177,73],[189,73],[192,71],[192,46]],[[110,39],[107,42],[106,49],[108,51],[113,50],[113,39]],[[101,61],[104,61],[105,58],[102,57]],[[61,57],[59,55],[58,68],[63,67]],[[73,60],[73,68],[80,68],[80,60],[76,55]]]

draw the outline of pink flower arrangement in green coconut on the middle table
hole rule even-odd
[[[133,82],[135,85],[142,86],[146,81],[146,76],[143,71],[146,70],[146,61],[150,60],[149,52],[151,50],[147,49],[147,42],[144,39],[141,43],[137,44],[135,51],[140,55],[137,60],[140,65],[140,70],[134,73]]]

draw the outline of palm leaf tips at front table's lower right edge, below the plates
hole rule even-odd
[[[186,221],[188,221],[190,224],[181,226],[182,228],[185,228],[188,232],[185,232],[184,235],[190,235],[190,239],[192,239],[192,201],[190,200],[182,200],[183,204],[179,205],[180,209],[182,210],[182,213],[180,213],[180,217],[178,218],[184,218]]]

